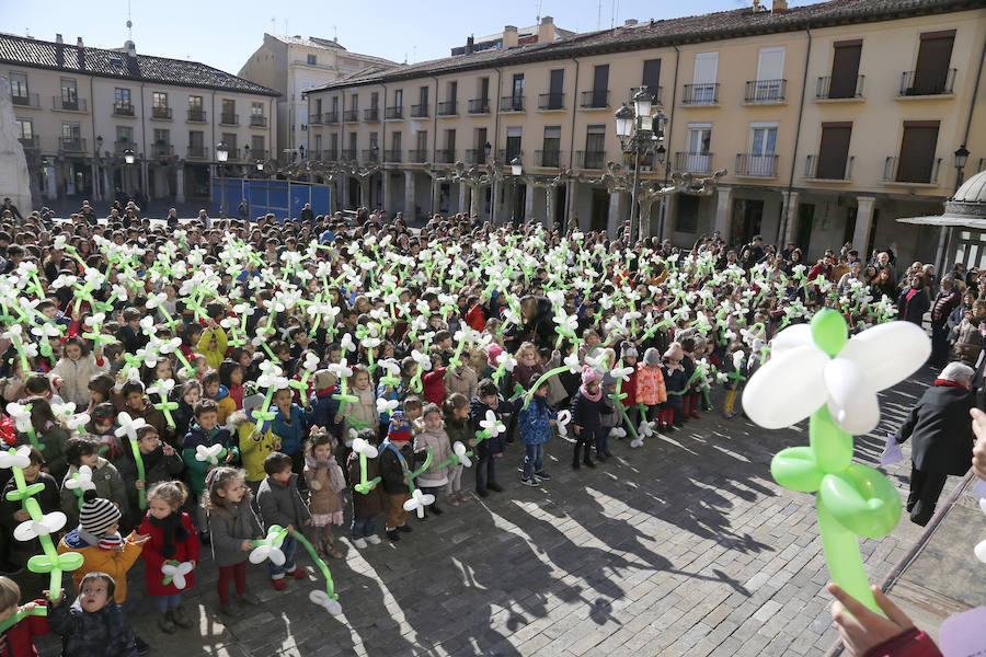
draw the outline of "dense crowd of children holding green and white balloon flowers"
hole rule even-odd
[[[44,512],[69,518],[58,550],[84,557],[78,599],[49,602],[67,655],[146,652],[119,607],[138,560],[163,632],[192,626],[182,592],[200,550],[219,572],[219,611],[238,616],[259,602],[248,556],[272,526],[288,532],[284,562],[267,564],[282,590],[307,577],[298,532],[326,560],[343,557],[340,534],[358,550],[383,542],[380,520],[398,545],[414,489],[435,498],[427,518],[513,476],[547,485],[563,454],[595,468],[611,438],[638,447],[699,418],[716,384],[732,419],[773,332],[810,316],[805,304],[881,311],[865,288],[833,297],[767,265],[721,266],[718,246],[685,257],[532,227],[3,228],[0,293],[32,309],[12,318],[4,304],[0,318],[22,327],[0,337],[12,404],[0,437],[31,446],[25,481],[44,485]],[[368,463],[357,438],[378,452]],[[80,477],[91,489],[65,485]],[[34,598],[44,583],[25,565],[38,550],[13,539],[26,519],[4,495],[0,566]],[[181,580],[162,575],[175,564]],[[19,598],[0,578],[0,604]],[[8,642],[36,630],[15,627]]]

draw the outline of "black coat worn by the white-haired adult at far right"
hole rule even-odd
[[[914,438],[910,460],[921,472],[965,474],[972,464],[973,394],[964,388],[935,385],[897,431],[897,442]]]

